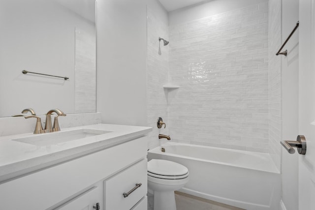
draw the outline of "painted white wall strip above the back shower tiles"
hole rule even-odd
[[[232,11],[266,0],[211,0],[188,6],[169,13],[169,26]]]

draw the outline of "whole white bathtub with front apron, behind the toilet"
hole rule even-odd
[[[148,151],[151,159],[189,169],[181,192],[246,210],[279,210],[281,175],[267,153],[166,143]]]

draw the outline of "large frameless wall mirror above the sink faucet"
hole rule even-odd
[[[1,0],[0,28],[0,117],[96,111],[95,0]]]

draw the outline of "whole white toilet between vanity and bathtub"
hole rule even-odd
[[[176,210],[174,191],[189,180],[185,166],[168,160],[148,162],[148,194],[154,196],[154,210]]]

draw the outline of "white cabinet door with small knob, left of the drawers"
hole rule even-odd
[[[102,210],[103,203],[102,182],[95,184],[91,189],[66,202],[55,210],[95,210],[93,206],[99,203]]]

